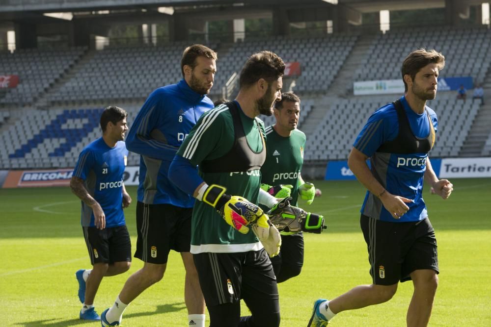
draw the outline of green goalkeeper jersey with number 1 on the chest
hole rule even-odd
[[[292,205],[297,205],[298,179],[303,166],[305,134],[294,129],[289,137],[284,137],[276,133],[273,126],[268,126],[266,137],[266,161],[261,167],[261,182],[273,186],[293,185]]]

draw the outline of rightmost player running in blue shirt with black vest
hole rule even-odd
[[[435,50],[411,52],[401,70],[405,96],[377,110],[356,138],[348,165],[368,189],[360,226],[372,284],[358,285],[331,301],[317,300],[308,326],[326,326],[341,311],[386,302],[399,281],[411,279],[414,293],[407,324],[427,326],[438,284],[438,257],[422,197],[423,179],[442,199],[453,190],[448,180],[437,178],[428,158],[437,120],[426,101],[435,99],[444,65],[444,56]]]

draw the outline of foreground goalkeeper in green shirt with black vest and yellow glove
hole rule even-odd
[[[281,238],[257,205],[277,201],[260,188],[266,145],[264,124],[256,117],[270,116],[281,100],[284,69],[273,52],[250,56],[236,100],[203,114],[169,167],[170,180],[198,200],[191,253],[211,327],[279,326],[270,256],[279,252]],[[241,317],[241,299],[251,316]]]

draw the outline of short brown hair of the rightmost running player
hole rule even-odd
[[[437,52],[434,49],[426,50],[421,48],[409,53],[406,59],[404,59],[401,68],[405,91],[408,91],[408,84],[404,80],[404,75],[409,75],[414,80],[419,70],[428,64],[437,64],[438,70],[441,71],[445,67],[445,57],[441,52]]]

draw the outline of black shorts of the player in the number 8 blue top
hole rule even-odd
[[[136,203],[135,257],[149,263],[167,263],[170,250],[189,252],[192,208],[171,204]]]

